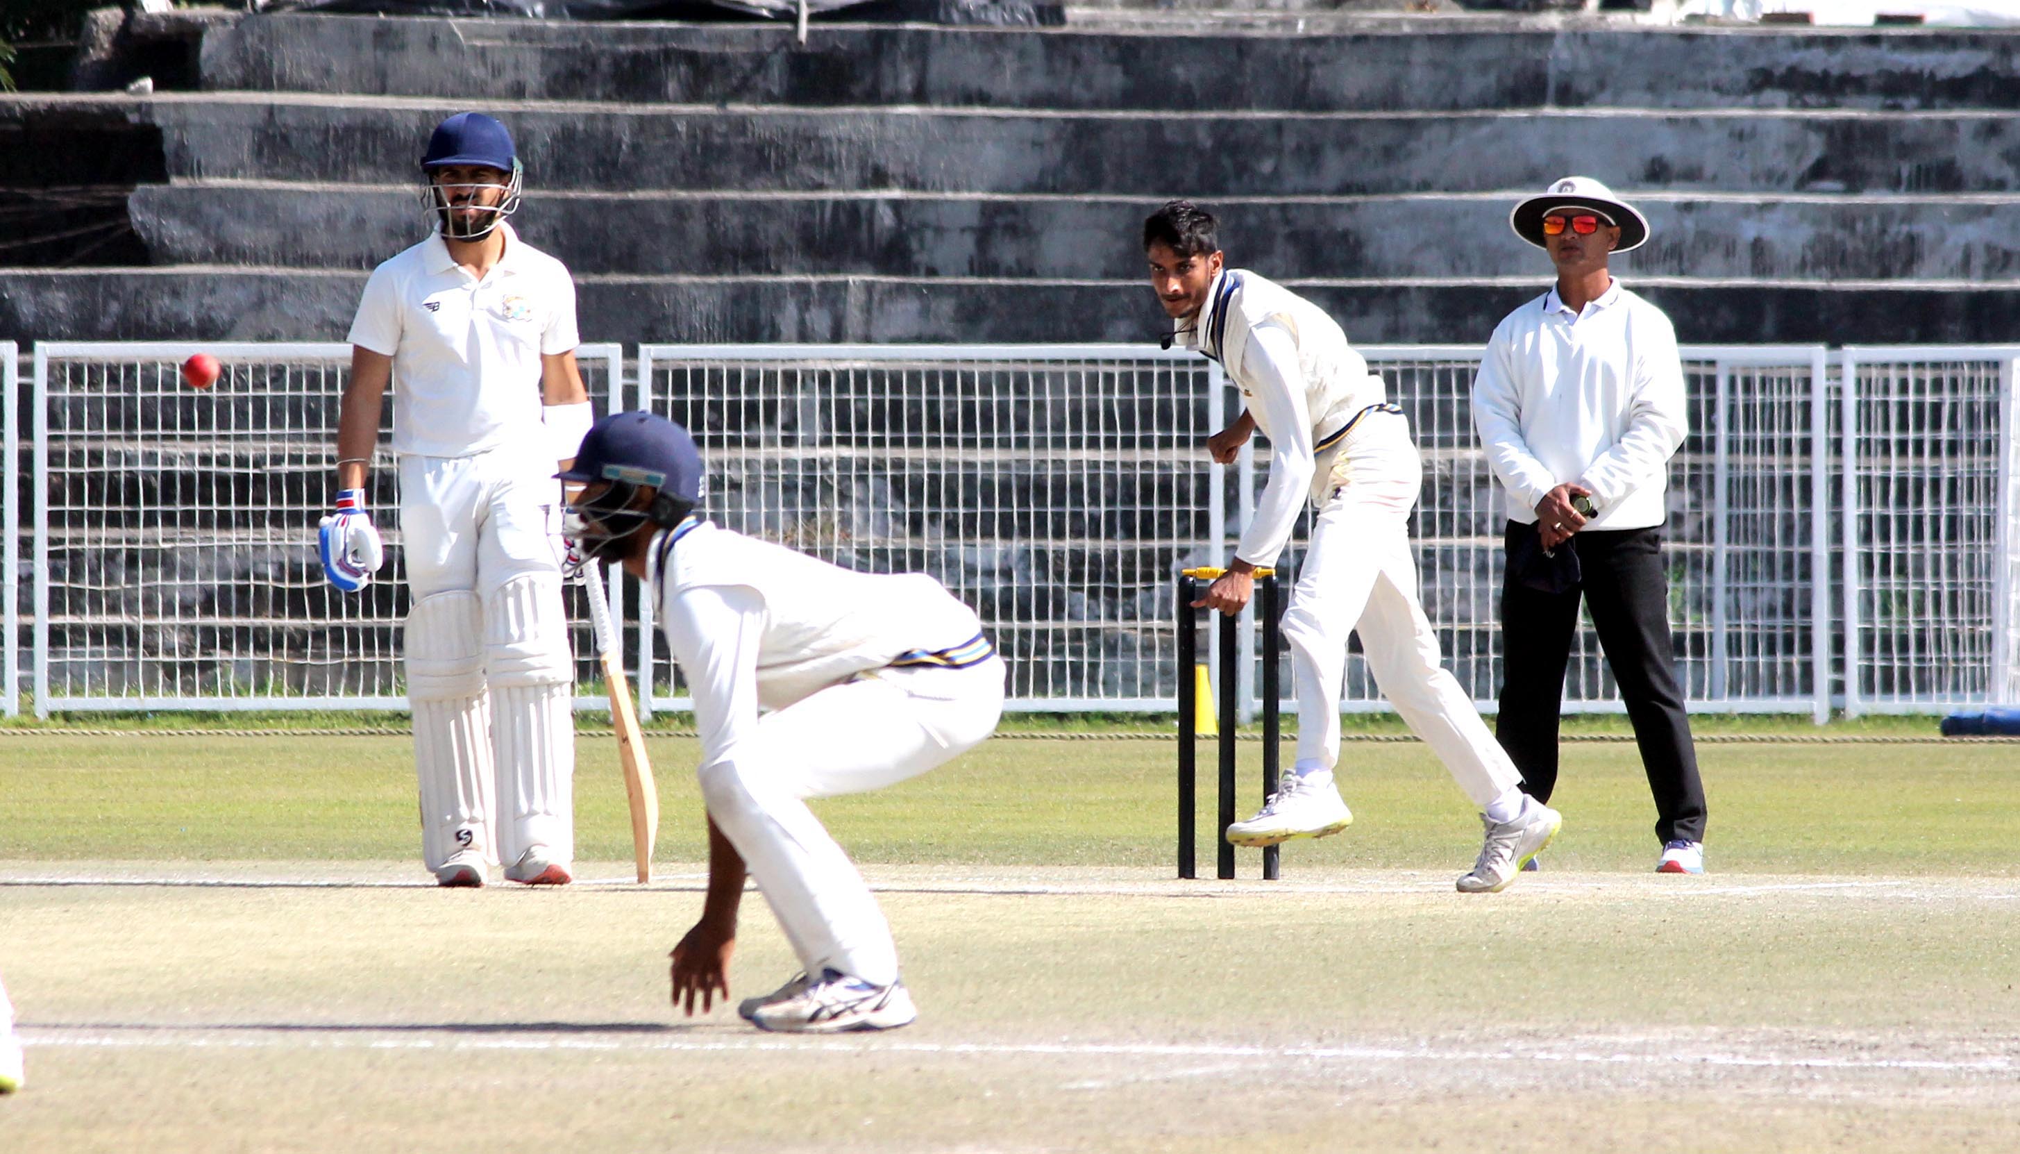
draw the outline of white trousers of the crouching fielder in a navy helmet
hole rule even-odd
[[[758,719],[703,766],[701,796],[764,891],[800,966],[887,986],[891,924],[806,798],[877,790],[982,744],[1004,707],[1004,663],[877,669]]]

